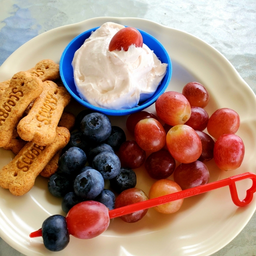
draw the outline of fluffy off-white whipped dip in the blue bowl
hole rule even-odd
[[[153,51],[131,45],[128,51],[108,51],[113,37],[124,26],[107,22],[76,51],[72,66],[76,89],[96,107],[123,110],[151,97],[166,74]]]

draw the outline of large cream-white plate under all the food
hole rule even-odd
[[[256,96],[220,52],[185,32],[137,18],[100,17],[85,20],[52,29],[21,46],[0,67],[0,81],[9,79],[18,71],[34,67],[35,63],[45,58],[58,63],[62,51],[76,35],[107,21],[142,29],[163,44],[173,64],[168,90],[181,92],[189,81],[198,81],[204,84],[211,97],[206,108],[209,115],[218,108],[232,108],[239,113],[241,125],[237,134],[244,141],[244,161],[239,169],[230,172],[221,172],[213,160],[209,161],[210,182],[243,172],[256,172]],[[72,102],[68,109],[78,113],[82,108]],[[154,105],[148,111],[155,113]],[[112,125],[119,125],[127,131],[126,118],[111,117]],[[131,137],[128,136],[128,139]],[[13,157],[10,151],[1,148],[0,167]],[[148,177],[143,168],[136,169],[136,173],[137,187],[148,194],[154,180]],[[249,187],[249,181],[237,184],[241,198]],[[172,215],[149,209],[147,215],[134,224],[114,219],[101,236],[90,240],[71,237],[70,244],[63,251],[51,253],[44,248],[42,238],[30,239],[29,233],[38,230],[49,215],[64,212],[61,210],[61,199],[49,194],[47,179],[38,177],[31,191],[21,197],[0,188],[0,236],[16,250],[31,256],[210,255],[239,234],[255,209],[255,198],[247,207],[236,207],[228,187],[225,187],[185,199],[182,208]]]

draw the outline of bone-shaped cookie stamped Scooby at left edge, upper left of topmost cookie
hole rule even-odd
[[[29,103],[43,91],[41,79],[28,72],[16,73],[0,98],[0,147],[12,139],[12,132]]]

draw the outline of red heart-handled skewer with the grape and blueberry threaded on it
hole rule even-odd
[[[244,179],[251,179],[253,184],[250,189],[247,190],[244,200],[240,200],[236,190],[236,181]],[[70,241],[69,235],[73,235],[80,239],[90,239],[99,236],[107,230],[111,218],[131,214],[150,207],[156,207],[181,198],[199,195],[224,186],[230,187],[231,198],[236,206],[245,206],[252,201],[253,193],[256,192],[256,175],[254,173],[246,172],[223,180],[130,204],[110,211],[104,204],[99,202],[84,201],[72,207],[66,218],[61,215],[50,216],[44,221],[42,228],[32,232],[30,237],[34,238],[42,236],[44,245],[48,250],[63,250]]]

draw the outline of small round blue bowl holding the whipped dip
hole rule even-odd
[[[151,96],[149,99],[147,99],[144,102],[139,102],[139,105],[137,107],[125,109],[125,110],[109,110],[109,109],[99,108],[83,101],[80,98],[76,90],[76,85],[74,82],[74,75],[73,75],[73,67],[71,63],[73,61],[73,57],[76,50],[79,49],[82,46],[82,44],[84,44],[85,39],[87,39],[91,35],[91,33],[96,29],[98,29],[98,27],[87,30],[82,34],[78,35],[67,45],[67,47],[64,49],[64,52],[61,55],[60,75],[61,75],[61,80],[64,86],[66,87],[66,89],[68,90],[68,92],[71,94],[71,96],[73,96],[74,99],[76,99],[76,101],[78,101],[84,107],[90,108],[93,111],[101,112],[110,116],[129,115],[138,111],[142,111],[143,109],[152,105],[157,100],[157,98],[166,90],[166,87],[168,86],[171,80],[172,64],[171,64],[169,55],[166,52],[166,49],[164,49],[163,45],[160,44],[160,42],[157,41],[157,39],[155,39],[148,33],[143,32],[139,29],[138,30],[140,31],[143,37],[143,43],[146,44],[149,47],[149,49],[154,51],[154,53],[157,55],[157,57],[160,59],[162,63],[168,64],[166,75],[164,76],[161,84],[157,87],[157,90],[153,94],[153,96]]]

